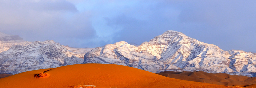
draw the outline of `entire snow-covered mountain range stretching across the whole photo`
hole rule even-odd
[[[256,76],[255,53],[224,51],[216,45],[200,42],[177,31],[166,31],[141,45],[121,41],[97,48],[71,48],[52,40],[26,42],[19,36],[6,36],[9,35],[0,35],[0,73],[17,74],[71,64],[103,63],[154,73],[205,71]],[[9,48],[4,47],[7,43]]]

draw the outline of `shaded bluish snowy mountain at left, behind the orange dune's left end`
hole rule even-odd
[[[53,40],[35,41],[27,46],[16,45],[0,53],[0,73],[17,74],[25,71],[81,64],[74,56]]]

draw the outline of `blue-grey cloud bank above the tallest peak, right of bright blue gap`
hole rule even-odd
[[[166,30],[180,31],[199,41],[215,44],[223,50],[255,51],[255,1],[160,1],[148,6],[149,16],[141,20],[123,13],[108,18],[111,26],[123,30],[115,41],[140,44]],[[138,13],[135,8],[131,13]],[[136,15],[135,15],[136,16]],[[111,23],[111,24],[110,24]]]

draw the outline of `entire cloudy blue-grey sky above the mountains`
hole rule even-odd
[[[255,0],[0,0],[0,32],[70,47],[141,44],[167,30],[256,52]]]

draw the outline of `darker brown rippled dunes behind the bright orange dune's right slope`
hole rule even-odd
[[[157,73],[170,78],[202,82],[202,83],[211,83],[218,85],[227,85],[227,86],[242,86],[248,88],[256,88],[256,77],[247,77],[247,76],[238,76],[238,75],[229,75],[225,73],[206,73],[204,71],[197,72],[174,72],[174,71],[165,71]],[[246,86],[248,85],[248,86]]]

